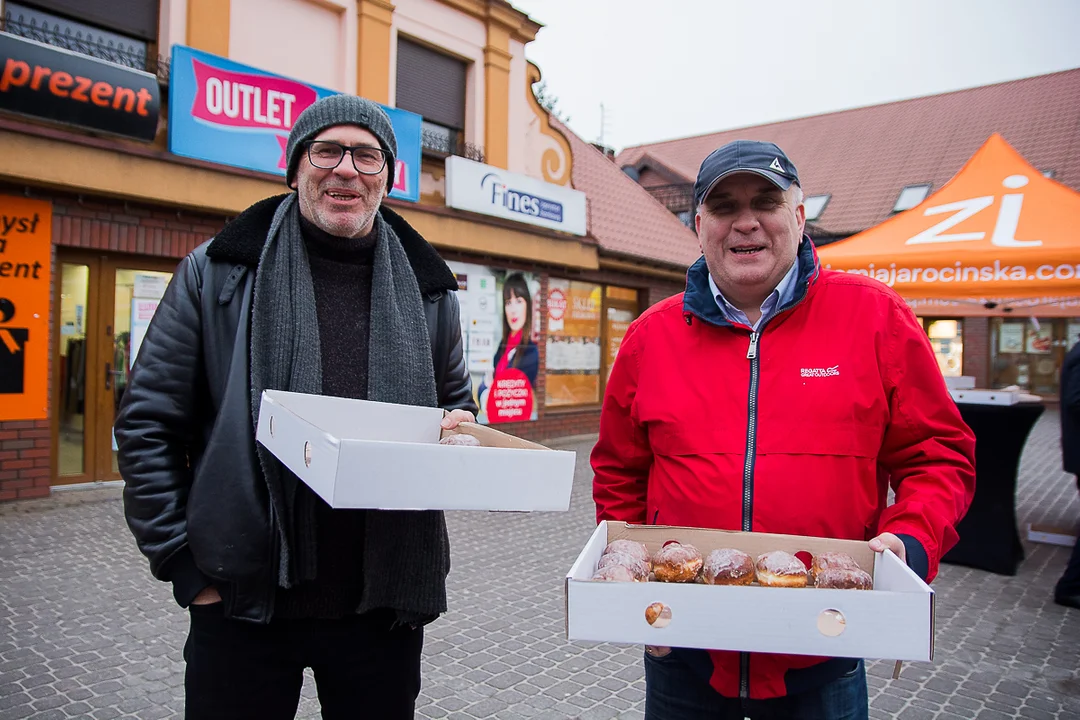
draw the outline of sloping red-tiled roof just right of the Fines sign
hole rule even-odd
[[[554,118],[570,142],[571,181],[589,199],[589,234],[602,250],[664,264],[689,267],[701,255],[698,236],[610,158]]]

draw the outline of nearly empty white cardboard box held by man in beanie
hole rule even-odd
[[[566,511],[575,453],[461,423],[484,447],[440,445],[441,408],[268,390],[256,439],[332,507]]]

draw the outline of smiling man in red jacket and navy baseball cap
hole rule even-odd
[[[932,580],[975,439],[922,328],[886,285],[822,269],[775,145],[713,152],[694,201],[704,257],[608,380],[597,519],[868,539]],[[645,673],[647,720],[868,715],[861,660],[650,647]]]

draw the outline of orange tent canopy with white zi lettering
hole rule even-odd
[[[905,298],[1080,295],[1080,193],[995,134],[920,205],[819,255]]]

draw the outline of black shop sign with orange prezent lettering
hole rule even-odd
[[[0,32],[0,110],[151,141],[158,78]]]

